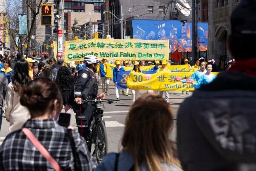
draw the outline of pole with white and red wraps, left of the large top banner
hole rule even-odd
[[[63,32],[61,29],[61,14],[62,14],[62,0],[59,0],[58,4],[58,41],[57,41],[57,53],[58,53],[58,59],[61,59],[63,57]]]

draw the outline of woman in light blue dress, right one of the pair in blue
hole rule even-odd
[[[201,85],[209,84],[216,78],[216,75],[212,74],[212,63],[208,62],[206,64],[206,73],[201,76],[201,78],[196,82],[192,83],[193,87],[200,88]]]

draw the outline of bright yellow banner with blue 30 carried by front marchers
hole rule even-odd
[[[155,74],[143,74],[141,72],[130,72],[127,78],[127,87],[139,90],[180,91],[194,90],[192,84],[176,81],[175,77],[181,79],[189,78],[194,72],[159,72]],[[217,75],[218,72],[212,72]]]

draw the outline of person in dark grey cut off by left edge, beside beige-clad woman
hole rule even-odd
[[[2,119],[3,119],[3,100],[6,95],[6,90],[8,86],[8,79],[5,75],[0,73],[0,130],[2,126]]]

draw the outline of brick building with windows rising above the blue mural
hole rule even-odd
[[[106,1],[105,11],[113,13],[121,18],[120,5],[122,4],[124,34],[132,36],[132,20],[184,20],[191,22],[192,3],[188,2],[187,9],[179,8],[179,1],[170,0],[108,0]],[[107,5],[108,3],[108,5]],[[120,20],[113,14],[105,13],[106,27],[113,38],[121,38]],[[109,26],[108,26],[109,25]]]

